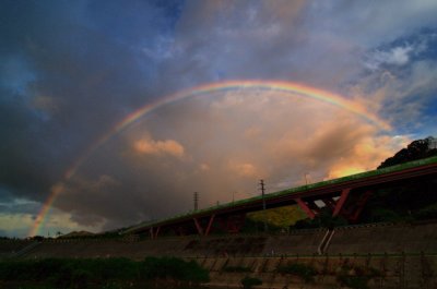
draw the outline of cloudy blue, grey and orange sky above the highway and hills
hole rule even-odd
[[[1,0],[0,236],[375,169],[437,135],[435,15],[434,0]]]

